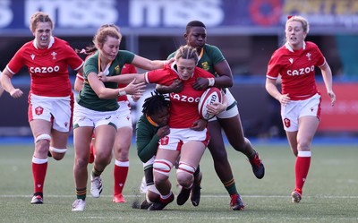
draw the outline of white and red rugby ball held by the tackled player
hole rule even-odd
[[[198,104],[199,115],[206,120],[213,118],[214,116],[208,113],[207,105],[212,105],[214,102],[221,103],[222,101],[221,91],[218,88],[211,87],[205,90],[204,93],[202,93]]]

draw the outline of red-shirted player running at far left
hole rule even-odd
[[[31,203],[43,203],[47,153],[56,160],[64,158],[72,127],[73,94],[68,66],[82,72],[83,61],[66,41],[52,36],[54,22],[47,13],[34,13],[30,30],[35,39],[16,52],[3,71],[1,83],[14,99],[21,98],[22,90],[14,88],[11,79],[22,66],[28,67],[31,80],[28,116],[35,142]]]

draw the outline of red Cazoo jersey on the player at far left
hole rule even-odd
[[[18,73],[26,65],[30,73],[30,90],[39,96],[66,97],[72,93],[68,66],[77,71],[83,66],[80,56],[63,39],[51,37],[47,48],[36,47],[34,40],[25,43],[6,68]]]

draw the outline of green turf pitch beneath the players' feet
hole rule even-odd
[[[190,202],[183,206],[173,202],[162,211],[132,209],[132,202],[144,198],[139,193],[142,165],[132,148],[130,173],[124,187],[127,203],[111,202],[112,162],[103,174],[102,196],[94,199],[89,195],[85,211],[72,212],[72,148],[64,160],[49,160],[45,204],[31,205],[32,145],[1,144],[0,222],[358,222],[356,145],[313,146],[311,171],[303,201],[298,204],[291,203],[289,196],[294,189],[294,156],[288,147],[260,145],[256,149],[266,167],[266,176],[261,180],[253,176],[243,154],[227,149],[236,185],[247,205],[243,211],[230,210],[229,196],[214,171],[209,151],[200,162],[204,176],[199,207]],[[174,173],[171,179],[176,195]]]

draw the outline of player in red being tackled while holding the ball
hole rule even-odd
[[[148,210],[163,210],[167,204],[174,201],[174,194],[169,181],[170,170],[176,159],[179,159],[176,178],[183,188],[191,190],[194,176],[200,159],[209,142],[209,132],[206,122],[203,127],[198,103],[205,90],[195,90],[193,84],[198,78],[210,78],[212,74],[196,66],[199,56],[194,47],[180,47],[175,54],[175,62],[166,64],[164,69],[150,71],[144,74],[120,75],[100,79],[107,81],[158,83],[169,86],[175,80],[183,81],[183,90],[170,93],[170,133],[160,139],[156,159],[154,159],[154,184],[160,193],[160,200],[151,204]],[[217,105],[215,115],[226,109],[226,105]],[[187,198],[185,198],[187,199]],[[178,204],[182,203],[178,196]],[[185,200],[186,201],[186,200]],[[243,208],[243,202],[241,203]]]

